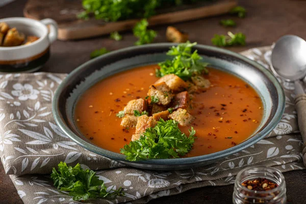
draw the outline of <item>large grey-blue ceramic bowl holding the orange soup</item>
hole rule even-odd
[[[73,70],[59,86],[54,96],[53,115],[56,123],[71,140],[98,155],[137,168],[178,170],[211,164],[233,155],[266,137],[281,120],[285,110],[285,94],[269,70],[240,54],[212,46],[196,45],[194,49],[198,50],[203,61],[210,63],[211,67],[232,73],[244,80],[258,92],[263,101],[263,119],[258,129],[244,142],[209,155],[131,162],[127,161],[124,155],[96,146],[87,139],[80,132],[74,120],[75,105],[80,96],[100,80],[115,73],[170,59],[166,52],[172,45],[176,44],[155,43],[119,49],[90,60]]]

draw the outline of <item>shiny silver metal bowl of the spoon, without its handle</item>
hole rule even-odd
[[[271,69],[285,81],[293,82],[306,76],[306,41],[295,35],[285,35],[275,43],[271,54]]]

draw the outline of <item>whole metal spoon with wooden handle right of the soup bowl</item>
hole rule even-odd
[[[301,80],[306,76],[306,41],[294,35],[277,40],[271,55],[272,71],[285,81],[294,82],[295,110],[303,140],[303,163],[306,166],[306,94]]]

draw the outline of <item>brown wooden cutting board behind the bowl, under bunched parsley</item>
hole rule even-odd
[[[215,16],[227,13],[237,6],[237,0],[217,0],[202,2],[194,5],[184,5],[167,10],[159,10],[158,14],[148,19],[150,25],[169,24],[193,20],[197,18]],[[113,31],[130,30],[137,19],[118,22],[105,22],[103,20],[80,20],[76,15],[81,12],[82,0],[29,0],[25,5],[25,17],[41,20],[53,18],[59,24],[58,39],[72,40],[89,38]]]

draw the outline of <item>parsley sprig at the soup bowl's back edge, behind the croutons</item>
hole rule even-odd
[[[202,57],[198,55],[197,50],[191,52],[192,47],[196,42],[181,43],[177,46],[172,46],[167,52],[168,56],[173,56],[172,60],[166,60],[159,63],[160,69],[156,69],[157,77],[173,73],[183,80],[188,80],[194,73],[208,73],[206,66],[208,63],[201,62]]]

